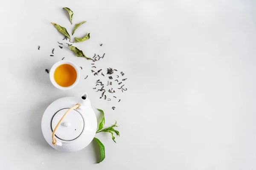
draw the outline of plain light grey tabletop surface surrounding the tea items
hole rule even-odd
[[[1,0],[0,6],[1,170],[256,169],[255,0]],[[73,24],[87,20],[75,35],[91,33],[76,46],[90,57],[106,53],[98,68],[125,72],[121,102],[100,100],[91,62],[58,48],[63,36],[50,22],[71,33],[66,6]],[[44,71],[62,57],[83,67],[69,91],[53,87]],[[116,144],[110,134],[96,135],[106,147],[101,164],[93,164],[96,143],[61,153],[41,132],[51,102],[83,92],[105,111],[106,126],[120,125]]]

